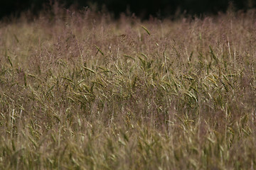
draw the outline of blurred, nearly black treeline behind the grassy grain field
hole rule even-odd
[[[18,16],[22,11],[30,10],[33,14],[53,4],[53,1],[45,0],[0,0],[0,18],[4,16]],[[135,13],[137,16],[147,18],[152,16],[169,16],[180,13],[190,15],[216,14],[225,12],[233,4],[235,10],[247,10],[256,7],[255,0],[59,0],[58,4],[68,8],[76,6],[83,8],[94,6],[95,10],[102,8],[114,13]]]

